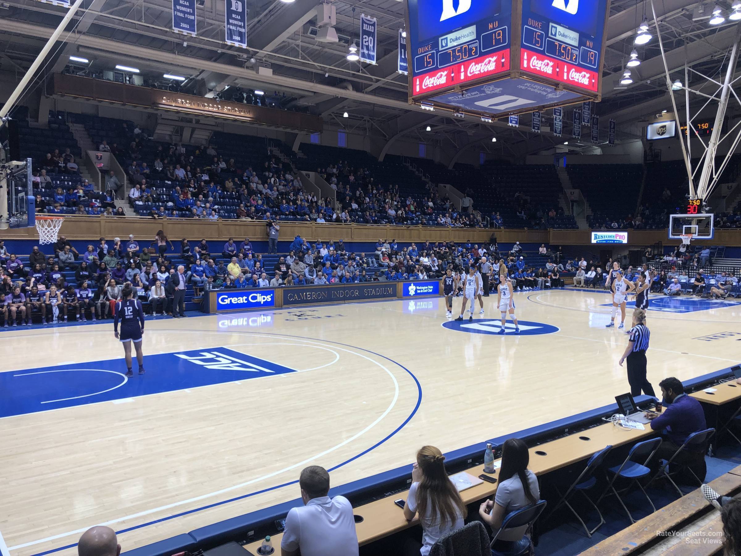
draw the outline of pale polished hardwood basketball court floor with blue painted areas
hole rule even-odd
[[[741,333],[741,305],[652,299],[663,309],[648,317],[654,387],[738,363],[741,335],[719,334]],[[425,443],[451,451],[628,390],[617,365],[627,337],[604,328],[607,294],[515,300],[524,332],[505,337],[491,334],[496,296],[465,328],[443,326],[437,298],[148,320],[152,363],[125,384],[110,322],[3,329],[10,554],[72,555],[96,523],[127,530],[119,542],[133,549],[296,498],[286,483],[310,464],[348,483],[411,464]],[[222,363],[203,365],[213,351]]]

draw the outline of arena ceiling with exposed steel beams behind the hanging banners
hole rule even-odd
[[[43,74],[64,69],[70,55],[90,59],[88,70],[111,70],[115,64],[135,65],[142,75],[161,80],[163,73],[186,76],[185,92],[227,96],[236,87],[260,88],[285,93],[285,106],[321,115],[328,124],[347,130],[365,130],[388,139],[431,136],[449,148],[486,145],[496,134],[496,145],[505,154],[536,152],[563,142],[551,135],[529,133],[528,116],[518,130],[503,122],[485,124],[429,113],[407,103],[407,77],[396,72],[396,37],[405,26],[405,2],[396,0],[334,0],[340,40],[318,42],[310,34],[316,25],[317,0],[255,0],[248,22],[249,47],[224,42],[224,0],[199,0],[198,36],[184,38],[173,33],[168,0],[85,0],[62,34],[44,65]],[[697,19],[697,8],[711,10],[714,2],[654,0],[669,69],[684,82],[685,60],[694,69],[718,78],[737,40],[740,25],[726,19],[711,26]],[[730,10],[729,1],[720,1]],[[41,50],[65,9],[36,0],[0,1],[0,68],[19,76]],[[348,62],[348,39],[357,41],[359,16],[378,18],[378,64]],[[653,39],[644,46],[633,44],[644,13],[651,21]],[[662,110],[671,110],[666,90],[664,63],[651,16],[651,2],[613,0],[607,27],[599,116],[617,120],[618,139],[639,136],[637,122]],[[695,17],[694,17],[695,16]],[[185,42],[184,42],[185,41]],[[634,83],[619,84],[625,61],[637,48],[642,63],[632,68]],[[272,74],[258,73],[270,67]],[[43,75],[41,75],[41,78]],[[699,85],[699,78],[698,85]],[[41,79],[37,78],[38,82]],[[691,85],[693,83],[691,82]],[[679,107],[683,95],[677,96]],[[700,107],[699,96],[692,101]],[[731,108],[729,108],[730,113]],[[738,112],[739,110],[736,110]],[[348,117],[343,117],[347,112]],[[427,126],[431,131],[426,131]],[[511,152],[508,152],[511,151]]]

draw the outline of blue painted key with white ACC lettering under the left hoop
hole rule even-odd
[[[296,372],[227,348],[145,355],[144,368],[129,379],[122,359],[0,373],[0,417]]]

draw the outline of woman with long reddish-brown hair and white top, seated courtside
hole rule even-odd
[[[422,543],[409,538],[405,555],[427,556],[440,537],[463,526],[465,503],[445,472],[444,462],[445,456],[435,446],[422,446],[416,454],[404,517],[411,521],[419,514]]]

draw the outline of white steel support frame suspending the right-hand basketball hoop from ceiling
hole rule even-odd
[[[736,99],[739,107],[741,107],[741,99],[739,98],[737,92],[734,90],[734,85],[737,85],[737,82],[739,81],[739,79],[741,79],[741,76],[734,79],[734,71],[739,59],[739,51],[741,49],[741,24],[736,25],[736,37],[734,39],[734,44],[731,46],[730,51],[726,53],[725,56],[724,63],[727,64],[728,67],[725,70],[725,77],[723,78],[722,82],[703,75],[699,71],[689,67],[687,62],[685,62],[684,86],[677,87],[677,85],[681,85],[681,83],[679,83],[678,79],[675,80],[675,82],[672,82],[671,76],[669,75],[669,66],[666,60],[664,44],[661,36],[661,29],[659,27],[659,20],[657,19],[656,8],[654,7],[654,0],[651,0],[651,11],[654,16],[654,24],[656,26],[657,37],[659,39],[659,47],[661,48],[662,61],[664,62],[666,87],[669,92],[669,97],[671,98],[671,106],[674,108],[675,119],[677,119],[677,128],[679,128],[679,145],[682,146],[682,157],[685,161],[685,168],[687,170],[690,199],[708,199],[713,189],[717,185],[720,176],[725,170],[725,167],[728,165],[728,162],[730,162],[731,155],[734,153],[737,146],[741,142],[741,120],[739,120],[739,122],[737,122],[733,128],[728,130],[727,133],[722,133],[725,112],[728,108],[728,102],[730,101],[731,96]],[[708,87],[708,90],[714,90],[714,93],[702,93],[699,90],[703,88],[702,86],[696,86],[697,90],[689,87],[690,73],[693,73],[695,76],[700,76],[700,78],[702,78],[702,81],[700,82],[701,85],[710,85],[710,87]],[[677,111],[677,101],[674,98],[674,91],[682,90],[685,95],[685,119],[687,126],[686,139],[684,136],[682,136],[682,131],[679,126],[679,112]],[[700,110],[697,110],[697,112],[694,113],[694,116],[690,115],[690,93],[693,94],[693,99],[697,98],[697,96],[702,96],[707,99],[705,101],[705,104],[700,107]],[[679,92],[679,94],[681,94],[681,92]],[[702,136],[700,136],[700,133],[697,133],[697,128],[694,126],[694,120],[697,119],[697,116],[700,115],[700,112],[702,112],[702,110],[705,110],[708,105],[716,102],[717,112],[715,114],[715,124],[713,126],[710,139],[703,139]],[[692,135],[689,130],[692,130],[691,133],[694,133],[694,136],[696,136],[702,144],[702,155],[700,156],[700,159],[698,160],[697,165],[694,169],[692,168]],[[716,166],[715,155],[717,153],[718,147],[722,142],[728,139],[731,139],[731,145],[729,145],[728,147],[728,153],[723,158],[720,166]]]

